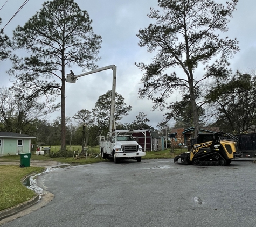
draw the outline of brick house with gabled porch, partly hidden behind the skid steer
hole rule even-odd
[[[202,127],[199,129],[199,133],[214,133],[219,132],[218,127]],[[188,127],[187,129],[179,128],[172,129],[169,137],[171,143],[174,143],[174,147],[190,146],[190,139],[195,135],[195,127]]]

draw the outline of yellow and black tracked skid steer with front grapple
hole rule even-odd
[[[174,158],[179,165],[226,166],[234,158],[242,156],[238,150],[238,139],[230,133],[198,134],[197,143],[190,152],[182,153]]]

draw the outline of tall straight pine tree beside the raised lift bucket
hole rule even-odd
[[[92,20],[73,0],[47,1],[25,25],[13,32],[15,47],[27,56],[11,57],[9,74],[16,77],[13,90],[20,98],[45,97],[45,106],[61,106],[61,151],[65,151],[65,68],[96,68],[101,37],[93,33]],[[68,72],[69,73],[69,72]],[[54,104],[60,95],[61,105]]]

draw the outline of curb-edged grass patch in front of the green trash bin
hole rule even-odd
[[[34,191],[26,188],[21,182],[22,178],[30,173],[39,173],[43,167],[20,168],[14,165],[0,165],[0,210],[13,207],[30,200]]]

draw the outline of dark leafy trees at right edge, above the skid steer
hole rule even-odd
[[[215,107],[212,116],[221,130],[244,133],[255,130],[256,76],[237,72],[226,81],[213,83],[206,98]]]

